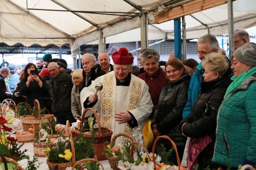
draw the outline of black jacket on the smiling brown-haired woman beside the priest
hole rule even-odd
[[[151,123],[151,129],[153,129],[153,125],[157,125],[160,135],[169,136],[176,146],[180,147],[184,147],[186,143],[186,137],[181,134],[179,123],[182,120],[182,111],[187,102],[190,78],[190,75],[186,75],[175,82],[167,83],[163,87]]]

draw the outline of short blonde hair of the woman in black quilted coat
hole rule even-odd
[[[208,65],[209,70],[214,74],[219,73],[223,76],[229,68],[229,59],[226,56],[225,50],[220,50],[218,53],[210,53],[202,60],[202,68]]]

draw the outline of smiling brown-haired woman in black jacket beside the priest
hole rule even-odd
[[[187,92],[190,76],[183,64],[177,58],[169,60],[166,65],[166,76],[170,80],[164,85],[158,100],[158,105],[151,123],[155,136],[167,135],[176,144],[179,157],[182,159],[186,137],[182,136],[179,123],[182,120],[183,108],[187,102]],[[156,147],[156,153],[161,155],[160,144],[164,144],[166,151],[172,148],[171,142],[160,139]],[[172,153],[169,161],[177,165],[176,154]]]

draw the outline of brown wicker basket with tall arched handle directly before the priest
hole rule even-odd
[[[106,155],[103,155],[103,151],[104,151],[104,148],[108,145],[108,143],[110,143],[111,135],[113,134],[113,132],[109,128],[101,127],[100,120],[99,120],[97,113],[95,112],[95,110],[93,110],[91,108],[87,108],[84,110],[84,112],[82,114],[81,122],[84,122],[84,116],[85,116],[86,112],[89,110],[91,110],[93,112],[93,114],[95,115],[97,123],[98,123],[98,127],[99,127],[99,133],[95,135],[95,138],[93,141],[93,145],[95,147],[95,155],[97,156],[98,160],[106,160],[107,158],[106,158]],[[82,132],[90,131],[89,129],[84,130],[83,123],[81,123],[80,129]],[[104,129],[106,133],[102,134],[102,129]],[[79,138],[79,134],[80,134],[79,130],[71,130],[71,132],[72,132],[73,137]],[[86,134],[86,133],[83,133],[83,136],[84,136],[84,138],[92,137],[91,134]]]

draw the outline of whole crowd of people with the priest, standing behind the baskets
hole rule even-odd
[[[3,67],[0,70],[0,100],[12,98],[31,106],[38,98],[51,99],[51,112],[57,123],[81,120],[83,110],[96,110],[100,123],[119,132],[132,133],[136,126],[148,129],[153,138],[169,136],[176,144],[182,165],[189,170],[232,168],[256,165],[256,44],[244,29],[234,34],[235,52],[230,57],[219,47],[214,35],[197,41],[200,63],[180,61],[171,53],[160,67],[160,55],[153,49],[140,52],[140,68],[134,57],[120,48],[110,57],[107,53],[82,55],[83,69],[71,71],[63,59],[46,53],[36,65]],[[16,71],[14,71],[16,70]],[[9,77],[10,92],[5,79]],[[95,85],[103,87],[96,93]],[[92,112],[88,111],[86,117]],[[147,137],[147,136],[144,136]],[[119,137],[118,143],[126,141]],[[152,139],[153,140],[153,139]],[[173,146],[159,140],[168,151]],[[148,146],[150,149],[150,146]],[[177,165],[173,153],[169,161]]]

